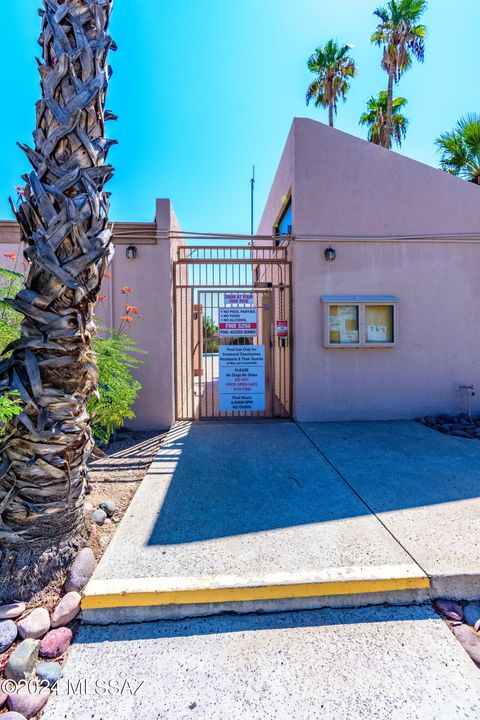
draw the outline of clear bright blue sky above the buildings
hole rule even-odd
[[[170,197],[185,230],[247,233],[251,166],[256,221],[292,118],[327,121],[305,106],[306,59],[330,37],[355,45],[358,77],[336,126],[365,136],[358,118],[386,87],[381,52],[369,42],[376,0],[115,0],[109,108],[120,116],[109,185],[113,220],[150,221],[155,197]],[[8,0],[2,16],[0,217],[27,160],[39,95],[37,0]],[[401,152],[437,165],[435,137],[480,111],[478,0],[430,0],[425,63],[402,79],[410,119]]]

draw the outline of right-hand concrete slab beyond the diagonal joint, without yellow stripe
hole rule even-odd
[[[302,429],[431,578],[435,596],[480,597],[480,442],[415,422]]]

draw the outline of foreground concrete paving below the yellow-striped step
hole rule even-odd
[[[371,607],[82,626],[43,720],[477,720],[479,707],[480,671],[431,609]]]

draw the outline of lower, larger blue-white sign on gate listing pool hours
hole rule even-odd
[[[220,412],[265,410],[265,346],[220,345]]]

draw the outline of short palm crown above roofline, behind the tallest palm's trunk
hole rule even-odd
[[[387,137],[387,91],[381,90],[377,97],[373,96],[367,101],[367,109],[360,117],[360,125],[368,127],[368,139],[370,142],[388,148],[392,144],[392,138],[401,146],[405,139],[408,128],[408,120],[401,110],[407,104],[406,98],[398,97],[392,101],[392,123],[390,126],[390,138]]]

